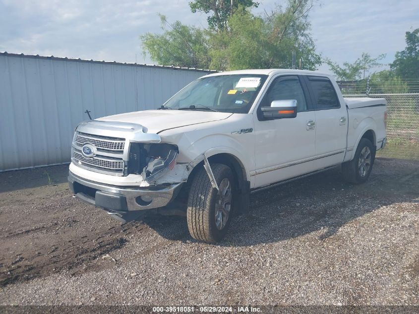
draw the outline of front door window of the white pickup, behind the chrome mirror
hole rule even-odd
[[[297,112],[307,110],[307,103],[298,77],[277,78],[263,97],[261,107],[269,107],[274,100],[297,100]]]

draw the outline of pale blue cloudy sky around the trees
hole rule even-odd
[[[126,63],[144,57],[139,36],[162,32],[157,13],[169,21],[206,27],[189,0],[0,0],[0,51]],[[255,13],[285,0],[259,0]],[[419,28],[419,0],[318,0],[309,14],[317,52],[342,64],[362,52],[386,54],[391,63],[405,48],[405,32]],[[319,70],[328,72],[323,64]]]

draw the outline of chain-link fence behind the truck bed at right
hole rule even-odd
[[[377,156],[419,160],[419,81],[338,82],[344,97],[387,100],[387,146]]]

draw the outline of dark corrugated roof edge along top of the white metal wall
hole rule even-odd
[[[47,59],[47,60],[60,60],[60,61],[71,61],[71,62],[85,62],[85,63],[119,64],[119,65],[129,65],[129,66],[138,66],[138,67],[165,68],[165,69],[172,69],[172,70],[186,70],[186,71],[205,72],[205,73],[222,72],[222,71],[218,71],[218,70],[201,69],[201,68],[194,68],[194,67],[182,67],[182,66],[176,66],[176,65],[156,65],[156,64],[126,63],[126,62],[121,63],[121,62],[116,62],[116,61],[97,61],[97,60],[93,60],[93,59],[92,60],[84,60],[84,59],[80,59],[80,58],[74,59],[74,58],[67,58],[67,57],[12,54],[12,53],[8,53],[6,51],[0,52],[0,56]]]

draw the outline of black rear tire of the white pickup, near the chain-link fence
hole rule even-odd
[[[362,161],[361,152],[365,153],[366,149],[368,149],[369,153],[370,153],[369,167],[368,167],[367,170],[365,169],[366,171],[361,171],[360,166],[359,166],[360,158],[361,158],[361,161]],[[364,153],[362,155],[364,155]],[[367,159],[364,158],[363,160],[365,161]],[[372,143],[369,139],[361,138],[361,140],[359,141],[357,150],[355,152],[354,159],[342,164],[343,178],[346,181],[351,182],[351,183],[355,183],[355,184],[364,183],[365,181],[368,180],[369,175],[371,174],[372,165],[374,164],[374,160],[375,160],[375,148],[374,148],[374,146],[372,145]]]

